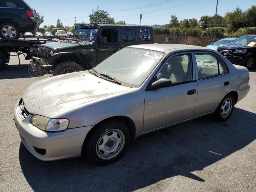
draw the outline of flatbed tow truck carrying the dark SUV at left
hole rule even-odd
[[[23,54],[26,60],[31,60],[32,56],[37,55],[38,46],[47,42],[56,42],[56,40],[38,37],[0,39],[0,71],[10,62],[10,56],[18,56],[20,65],[20,55]]]

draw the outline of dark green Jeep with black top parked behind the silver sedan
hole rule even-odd
[[[38,47],[35,61],[50,65],[54,75],[88,70],[114,52],[134,44],[154,43],[150,26],[75,24],[72,39]],[[49,68],[49,67],[47,67]]]

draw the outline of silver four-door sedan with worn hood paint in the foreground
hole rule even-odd
[[[91,70],[31,84],[14,119],[24,146],[40,160],[84,155],[109,164],[148,132],[206,114],[227,120],[248,83],[245,67],[214,50],[135,45]]]

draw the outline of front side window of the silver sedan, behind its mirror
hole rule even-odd
[[[191,54],[180,54],[170,58],[157,75],[157,80],[167,78],[172,84],[192,81],[192,57]]]

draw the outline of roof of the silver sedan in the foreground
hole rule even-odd
[[[184,44],[159,44],[159,43],[154,43],[154,44],[142,44],[142,45],[132,45],[129,46],[132,48],[140,48],[140,49],[148,49],[148,50],[153,50],[153,51],[160,51],[160,52],[165,52],[165,53],[170,53],[174,52],[176,50],[211,50],[205,47],[200,47],[200,46],[194,46],[194,45],[184,45]]]

